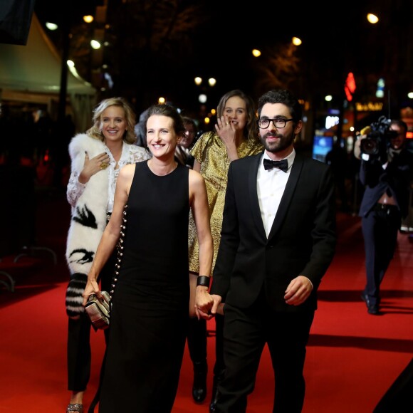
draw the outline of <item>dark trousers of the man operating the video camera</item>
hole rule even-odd
[[[372,305],[380,304],[380,284],[394,256],[400,225],[397,206],[377,204],[374,210],[362,217],[367,277],[364,293]]]

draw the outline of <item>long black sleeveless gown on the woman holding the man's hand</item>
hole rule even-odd
[[[100,413],[171,412],[189,320],[189,168],[138,162],[110,316]]]

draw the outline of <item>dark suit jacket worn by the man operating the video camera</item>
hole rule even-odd
[[[378,159],[362,160],[360,182],[365,192],[360,204],[359,216],[366,216],[386,191],[396,199],[402,218],[409,214],[410,183],[413,179],[413,155],[407,149],[394,155],[383,169]]]

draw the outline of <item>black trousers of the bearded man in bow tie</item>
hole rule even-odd
[[[224,380],[218,385],[216,412],[246,412],[256,372],[267,343],[275,374],[273,412],[303,409],[303,368],[314,310],[281,313],[261,294],[251,308],[224,307]]]

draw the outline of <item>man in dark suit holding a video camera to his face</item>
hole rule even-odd
[[[380,283],[393,258],[402,219],[409,211],[413,154],[404,147],[406,134],[405,122],[385,120],[373,123],[355,145],[355,157],[361,159],[360,182],[365,186],[359,216],[367,283],[361,297],[372,315],[380,314]]]

